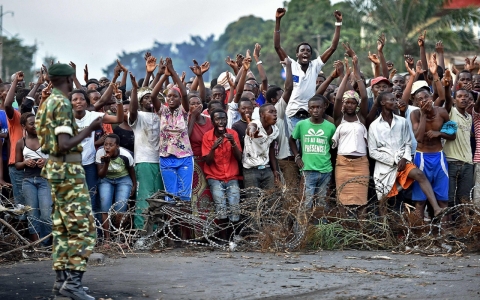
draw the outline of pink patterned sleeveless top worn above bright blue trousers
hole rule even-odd
[[[159,155],[167,157],[174,155],[177,158],[192,156],[192,147],[188,138],[188,113],[182,105],[170,111],[161,106],[160,116],[160,147]]]

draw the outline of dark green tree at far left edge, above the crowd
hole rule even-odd
[[[10,76],[18,71],[23,71],[26,80],[34,77],[33,55],[37,51],[36,46],[23,45],[22,39],[17,35],[13,37],[3,37],[3,74],[0,77],[4,81],[10,81]]]

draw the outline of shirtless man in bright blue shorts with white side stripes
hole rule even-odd
[[[405,64],[411,74],[408,84],[405,88],[405,97],[410,96],[412,84],[415,76],[413,71]],[[436,85],[440,100],[445,99],[445,90],[440,83],[437,74],[437,63],[435,57],[429,62],[429,70],[433,75],[433,82]],[[449,84],[449,83],[447,83]],[[450,121],[448,112],[443,107],[433,105],[432,94],[426,88],[420,87],[413,91],[415,101],[420,109],[414,110],[410,114],[413,133],[417,140],[417,151],[415,152],[414,163],[423,171],[428,181],[432,185],[435,193],[436,202],[430,203],[434,209],[434,216],[439,215],[442,209],[448,206],[448,169],[447,159],[443,153],[441,139],[454,140],[456,134],[447,134],[442,131],[443,124]],[[418,182],[413,184],[412,200],[415,202],[417,213],[423,219],[427,197],[423,193]]]

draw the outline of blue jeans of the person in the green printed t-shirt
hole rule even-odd
[[[312,208],[314,198],[317,205],[325,206],[327,204],[325,196],[332,172],[303,171],[303,176],[305,177],[305,206]]]

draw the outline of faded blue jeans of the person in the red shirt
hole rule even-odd
[[[237,180],[228,182],[208,179],[210,192],[215,202],[215,211],[219,219],[226,219],[237,222],[240,219],[240,188]],[[227,201],[230,210],[227,209]]]

